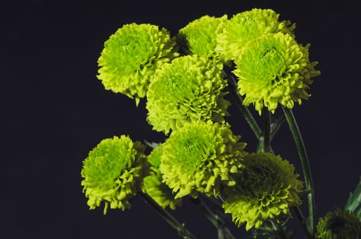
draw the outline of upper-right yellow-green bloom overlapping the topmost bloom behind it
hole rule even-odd
[[[320,74],[317,62],[308,59],[308,48],[297,44],[289,34],[269,33],[248,42],[235,61],[239,94],[243,104],[254,104],[259,114],[263,107],[274,113],[278,103],[289,109],[310,95],[306,92],[311,77]]]

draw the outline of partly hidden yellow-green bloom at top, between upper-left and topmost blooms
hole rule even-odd
[[[215,38],[222,32],[227,15],[222,17],[202,16],[179,30],[178,38],[185,38],[187,51],[203,57],[216,57]]]

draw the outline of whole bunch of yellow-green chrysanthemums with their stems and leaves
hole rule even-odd
[[[137,106],[145,98],[147,122],[163,132],[164,141],[118,135],[98,143],[81,171],[90,209],[103,204],[104,214],[125,210],[139,195],[181,237],[195,238],[167,210],[191,197],[217,227],[218,238],[236,238],[228,216],[252,233],[248,238],[292,238],[286,227],[292,217],[308,238],[361,238],[361,184],[345,208],[315,216],[308,156],[292,109],[309,98],[320,72],[309,59],[310,44],[295,40],[295,24],[278,18],[273,10],[253,9],[230,18],[202,16],[176,36],[144,23],[123,25],[110,36],[98,59],[98,79]],[[231,103],[258,139],[256,149],[246,149],[226,121]],[[248,107],[263,117],[262,127]],[[273,154],[271,140],[285,122],[304,182],[288,160]]]

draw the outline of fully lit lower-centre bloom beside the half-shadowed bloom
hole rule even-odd
[[[163,182],[176,198],[198,193],[217,197],[221,184],[233,185],[231,175],[243,167],[245,143],[228,124],[190,122],[173,131],[163,145]]]

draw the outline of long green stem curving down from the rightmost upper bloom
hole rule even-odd
[[[297,126],[297,122],[295,116],[291,109],[286,107],[282,107],[284,116],[286,117],[287,122],[289,123],[289,128],[292,132],[293,139],[295,140],[295,144],[297,147],[297,151],[299,154],[299,158],[301,160],[302,169],[304,172],[304,180],[306,184],[306,191],[309,193],[307,194],[308,199],[308,224],[309,224],[309,231],[308,233],[312,236],[315,235],[315,195],[312,191],[312,176],[310,170],[310,164],[308,162],[308,156],[306,153],[306,147],[304,145],[304,141],[302,140],[301,132]]]

